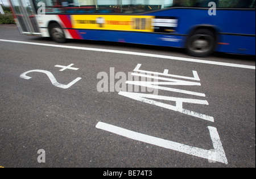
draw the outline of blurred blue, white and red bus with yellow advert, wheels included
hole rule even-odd
[[[20,33],[255,56],[255,0],[10,0]]]

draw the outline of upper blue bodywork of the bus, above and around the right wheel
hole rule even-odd
[[[196,25],[211,25],[224,33],[239,33],[255,35],[254,10],[217,9],[216,15],[209,15],[208,8],[171,8],[145,15],[176,16],[179,19],[179,34],[188,34]],[[246,18],[245,18],[246,17]]]

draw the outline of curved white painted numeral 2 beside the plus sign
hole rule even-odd
[[[58,88],[63,88],[63,89],[68,89],[71,86],[73,86],[73,84],[75,84],[76,82],[78,82],[80,79],[82,78],[76,78],[75,80],[73,80],[71,83],[65,85],[65,84],[60,84],[57,82],[56,78],[53,76],[53,74],[49,71],[46,70],[30,70],[30,71],[26,71],[25,73],[20,75],[20,78],[23,79],[31,79],[32,77],[27,76],[28,73],[32,73],[32,72],[39,72],[39,73],[44,73],[48,76],[48,78],[51,80],[51,83],[53,84],[53,86],[56,86]]]

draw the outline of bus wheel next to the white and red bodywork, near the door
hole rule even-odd
[[[63,44],[67,41],[64,31],[58,23],[49,24],[49,34],[57,43]]]

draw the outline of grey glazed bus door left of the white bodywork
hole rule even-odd
[[[35,19],[35,8],[30,0],[10,0],[20,33],[41,35]]]

